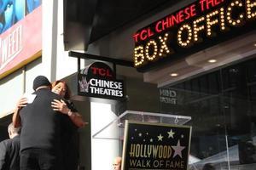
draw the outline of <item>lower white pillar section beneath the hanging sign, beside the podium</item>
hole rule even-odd
[[[111,111],[110,104],[91,103],[91,135],[98,133],[117,116]],[[112,169],[115,156],[120,156],[119,127],[104,128],[96,138],[91,138],[91,169]],[[101,163],[99,163],[101,160]]]

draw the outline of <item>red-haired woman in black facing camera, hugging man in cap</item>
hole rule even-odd
[[[60,111],[68,117],[61,126],[62,138],[61,147],[63,148],[63,170],[76,170],[79,162],[79,133],[78,128],[84,127],[83,117],[75,109],[73,103],[69,100],[71,93],[64,81],[55,81],[52,83],[52,92],[61,95],[65,101],[55,99],[52,101],[52,107],[55,111]]]

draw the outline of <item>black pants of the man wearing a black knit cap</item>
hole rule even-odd
[[[20,170],[59,170],[58,162],[53,151],[27,149],[20,152]]]

